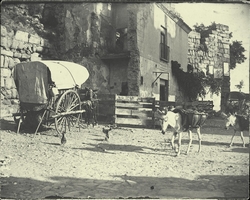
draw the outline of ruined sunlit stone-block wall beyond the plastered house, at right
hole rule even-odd
[[[229,51],[229,27],[222,24],[216,24],[216,30],[213,30],[207,38],[205,38],[205,46],[200,43],[201,35],[195,31],[189,33],[188,43],[188,63],[194,67],[194,71],[199,69],[215,77],[223,79],[221,89],[221,102],[217,102],[223,109],[226,96],[230,92],[230,77],[223,77],[224,63],[230,63]],[[208,94],[207,96],[210,96]],[[212,96],[213,99],[213,96]],[[220,106],[222,105],[222,107]],[[216,106],[216,105],[215,105]]]

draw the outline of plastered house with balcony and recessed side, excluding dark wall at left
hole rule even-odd
[[[171,61],[187,68],[190,27],[163,4],[112,4],[111,49],[101,59],[111,93],[182,101]],[[113,45],[113,46],[112,46]]]

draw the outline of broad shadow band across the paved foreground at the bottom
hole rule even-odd
[[[246,198],[249,176],[175,177],[121,175],[116,180],[50,177],[2,178],[1,198]],[[28,192],[27,192],[28,191]]]

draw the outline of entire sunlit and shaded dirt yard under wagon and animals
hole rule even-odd
[[[1,198],[242,198],[249,196],[249,133],[246,147],[223,120],[201,129],[202,151],[183,133],[181,155],[170,148],[171,130],[116,128],[104,141],[102,128],[67,134],[60,145],[54,127],[40,135],[15,133],[12,118],[1,120]]]

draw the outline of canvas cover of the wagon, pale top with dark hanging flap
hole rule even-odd
[[[89,77],[88,70],[66,61],[34,61],[18,63],[13,71],[20,102],[47,103],[49,83],[60,89],[81,86]]]

